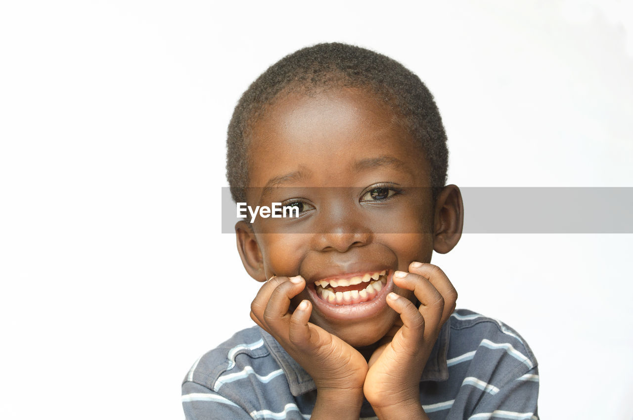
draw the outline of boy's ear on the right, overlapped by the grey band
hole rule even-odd
[[[433,249],[446,254],[457,245],[464,226],[464,203],[460,188],[447,185],[437,196]]]

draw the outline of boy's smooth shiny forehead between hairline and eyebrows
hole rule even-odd
[[[353,186],[349,172],[372,159],[398,162],[411,181],[428,178],[427,160],[398,113],[359,88],[282,95],[249,137],[251,187],[291,170],[310,173],[324,185]]]

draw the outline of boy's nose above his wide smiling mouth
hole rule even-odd
[[[316,233],[316,249],[344,253],[353,247],[372,242],[373,233],[363,226],[363,218],[353,209],[333,206],[322,214],[320,232]]]

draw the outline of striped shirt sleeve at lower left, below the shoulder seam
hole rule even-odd
[[[246,410],[200,384],[182,384],[182,409],[187,420],[252,420]]]

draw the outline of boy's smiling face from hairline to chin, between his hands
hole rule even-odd
[[[355,88],[282,96],[254,124],[249,147],[249,206],[301,203],[299,218],[255,219],[242,246],[256,261],[249,272],[301,275],[306,288],[292,305],[310,299],[311,322],[356,347],[375,343],[399,318],[387,293],[414,299],[393,272],[431,258],[426,157],[388,105]]]

